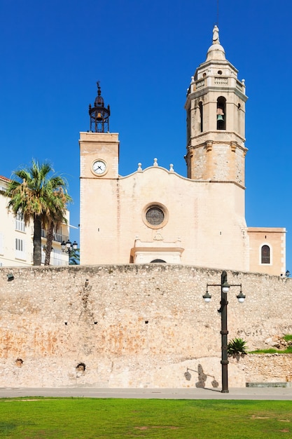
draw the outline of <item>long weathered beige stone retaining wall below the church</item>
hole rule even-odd
[[[220,281],[168,264],[1,268],[0,387],[221,386],[220,287],[202,299]],[[230,339],[252,350],[292,334],[291,279],[228,271],[228,282],[246,295],[228,293]],[[230,386],[290,381],[287,358],[231,360]]]

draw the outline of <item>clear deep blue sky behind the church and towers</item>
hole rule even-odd
[[[289,0],[219,0],[220,41],[249,96],[246,222],[286,227],[292,272],[291,18]],[[67,177],[78,226],[78,138],[97,80],[120,175],[155,157],[186,175],[186,89],[216,21],[217,0],[0,0],[0,175],[48,159]]]

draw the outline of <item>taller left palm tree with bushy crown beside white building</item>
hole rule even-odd
[[[31,167],[13,172],[6,191],[6,196],[11,198],[8,209],[15,215],[21,212],[25,224],[31,220],[34,222],[34,265],[41,265],[42,226],[51,224],[56,219],[57,210],[60,213],[60,210],[64,212],[66,208],[65,203],[62,208],[60,206],[67,196],[67,184],[59,175],[50,176],[53,172],[47,161],[40,164],[39,161],[32,160]],[[61,192],[64,196],[57,195]]]

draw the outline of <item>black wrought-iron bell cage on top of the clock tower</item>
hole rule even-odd
[[[95,98],[95,104],[91,107],[89,104],[90,115],[90,131],[93,133],[109,133],[109,116],[111,111],[109,105],[104,107],[104,98],[102,97],[102,90],[97,81],[97,97]]]

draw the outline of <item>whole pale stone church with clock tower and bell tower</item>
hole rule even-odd
[[[286,229],[247,227],[244,80],[218,27],[186,96],[187,177],[159,166],[119,175],[118,133],[98,83],[80,133],[81,264],[188,264],[284,276]]]

